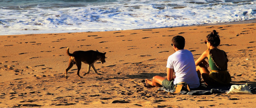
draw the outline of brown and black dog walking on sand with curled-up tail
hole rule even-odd
[[[80,78],[83,78],[79,75],[79,71],[81,69],[81,65],[82,65],[82,62],[85,63],[85,64],[88,64],[88,70],[87,70],[87,73],[85,73],[84,75],[90,73],[90,69],[91,67],[93,68],[94,72],[98,75],[100,75],[100,73],[97,72],[97,70],[95,69],[94,67],[94,63],[96,61],[100,61],[102,64],[105,63],[105,53],[101,53],[99,52],[98,50],[97,51],[94,51],[94,50],[88,50],[88,51],[75,51],[73,52],[72,54],[69,53],[69,48],[67,48],[66,50],[67,54],[70,56],[69,57],[69,64],[68,64],[68,68],[66,69],[66,73],[65,73],[65,78],[68,79],[68,76],[67,76],[67,72],[69,69],[72,68],[72,66],[75,64],[77,65],[77,75],[80,77]]]

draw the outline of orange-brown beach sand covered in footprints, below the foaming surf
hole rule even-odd
[[[189,96],[146,88],[143,79],[166,76],[174,53],[173,36],[185,38],[194,59],[207,49],[206,35],[217,30],[220,49],[227,52],[232,83],[256,86],[256,24],[192,26],[145,30],[52,33],[1,36],[0,107],[255,107],[253,95]],[[68,72],[69,52],[106,52],[106,63],[95,63],[102,75],[79,78]]]

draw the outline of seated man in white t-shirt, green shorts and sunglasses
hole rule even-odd
[[[196,72],[193,54],[184,49],[185,39],[182,36],[172,38],[172,48],[175,53],[167,60],[167,78],[154,76],[152,81],[145,79],[145,83],[151,86],[164,86],[169,90],[175,90],[175,85],[180,82],[187,82],[190,88],[197,88],[200,85]],[[173,72],[175,77],[173,77]]]

